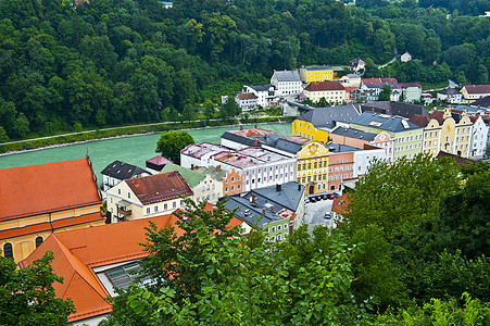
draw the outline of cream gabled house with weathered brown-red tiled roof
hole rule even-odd
[[[177,171],[123,180],[108,190],[112,223],[168,214],[193,192]]]

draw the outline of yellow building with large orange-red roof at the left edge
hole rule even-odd
[[[4,168],[0,179],[0,250],[15,262],[53,233],[105,223],[88,158]]]

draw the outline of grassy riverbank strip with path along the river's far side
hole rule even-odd
[[[267,117],[248,118],[247,121],[235,118],[231,121],[212,120],[212,121],[166,122],[129,127],[115,127],[98,130],[87,130],[78,134],[67,134],[37,139],[27,139],[10,143],[0,143],[0,156],[100,140],[124,137],[136,137],[141,135],[152,135],[167,130],[206,129],[214,127],[236,126],[242,124],[259,125],[267,123],[268,124],[287,123],[292,122],[294,118],[296,117],[292,116],[267,116]]]

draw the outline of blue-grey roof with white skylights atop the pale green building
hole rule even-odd
[[[373,112],[364,112],[352,124],[392,133],[420,128],[403,117]]]

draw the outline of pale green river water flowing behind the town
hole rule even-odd
[[[264,124],[260,127],[276,131],[280,136],[291,135],[291,124],[289,123]],[[203,128],[189,130],[189,134],[192,135],[196,142],[219,143],[219,137],[225,130],[238,128],[238,126]],[[85,158],[88,152],[100,184],[102,181],[100,172],[115,160],[145,168],[145,161],[156,155],[155,148],[159,138],[160,134],[123,137],[3,155],[0,156],[0,168],[76,160]]]

